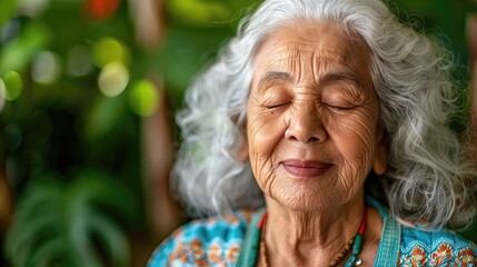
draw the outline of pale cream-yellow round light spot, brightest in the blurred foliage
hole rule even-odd
[[[111,62],[99,73],[99,90],[107,97],[119,96],[128,86],[129,72],[122,63]]]

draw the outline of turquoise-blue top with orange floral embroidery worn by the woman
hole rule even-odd
[[[445,229],[423,231],[399,225],[375,199],[367,198],[384,221],[374,266],[477,266],[477,247]],[[148,267],[256,266],[265,209],[191,221],[167,238]],[[349,260],[345,266],[350,266]]]

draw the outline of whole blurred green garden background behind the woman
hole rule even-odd
[[[0,0],[0,266],[146,265],[188,219],[173,113],[259,2]],[[394,7],[455,52],[467,92],[477,0]]]

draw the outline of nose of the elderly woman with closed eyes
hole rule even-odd
[[[315,103],[299,103],[290,111],[285,138],[304,144],[326,140],[327,132],[322,125],[322,116]]]

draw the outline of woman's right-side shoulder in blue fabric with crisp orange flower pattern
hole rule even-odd
[[[477,247],[454,231],[403,227],[399,266],[477,266]]]

